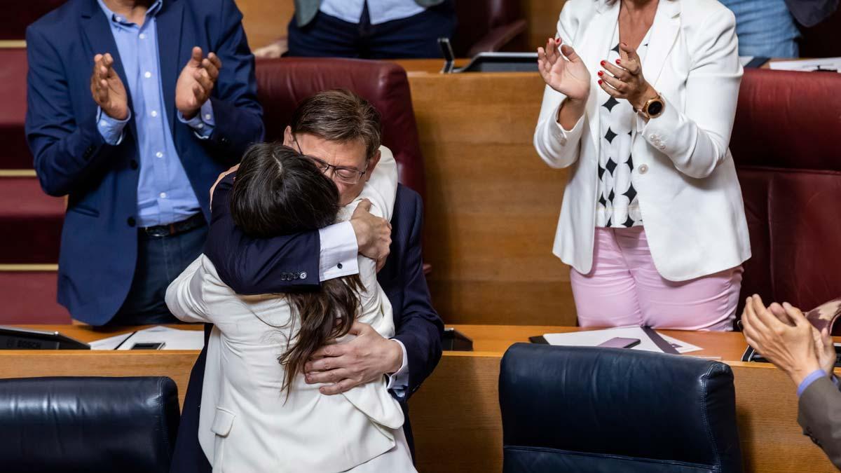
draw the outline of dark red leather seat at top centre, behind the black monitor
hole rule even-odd
[[[526,19],[520,0],[456,1],[458,27],[452,39],[458,57],[473,57],[484,51],[526,50]]]

